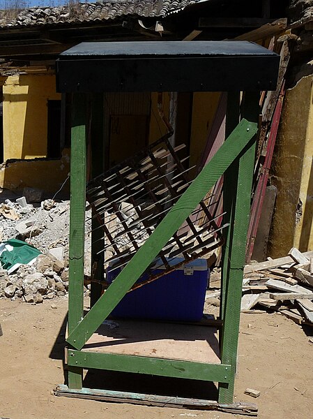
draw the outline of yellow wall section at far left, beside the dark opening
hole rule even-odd
[[[3,155],[33,159],[47,155],[47,100],[61,99],[54,75],[13,75],[3,85]]]

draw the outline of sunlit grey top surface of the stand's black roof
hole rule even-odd
[[[275,56],[260,45],[247,41],[137,41],[137,42],[83,42],[62,52],[60,59],[105,58],[169,58],[169,57],[234,57]]]

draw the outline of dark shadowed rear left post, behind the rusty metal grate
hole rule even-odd
[[[96,177],[105,171],[104,164],[104,95],[93,94],[92,97],[92,116],[91,116],[91,175]],[[93,214],[94,215],[94,214]],[[102,239],[103,230],[99,228],[98,219],[93,219],[91,223],[91,274],[92,279],[103,281],[105,253],[105,241]],[[99,253],[101,251],[101,253]],[[94,270],[93,270],[94,268]],[[96,304],[101,296],[102,286],[98,282],[91,282],[90,304]]]

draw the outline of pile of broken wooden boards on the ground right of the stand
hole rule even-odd
[[[299,325],[313,325],[313,251],[293,247],[288,256],[245,265],[241,311],[277,312]],[[213,304],[220,290],[209,291]]]

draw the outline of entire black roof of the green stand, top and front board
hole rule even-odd
[[[60,92],[275,90],[280,56],[246,41],[81,43],[56,61]]]

